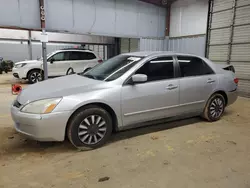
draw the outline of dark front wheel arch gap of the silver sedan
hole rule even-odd
[[[111,119],[112,119],[112,128],[113,128],[113,131],[117,131],[118,130],[118,119],[117,119],[117,115],[115,113],[115,111],[113,110],[113,108],[111,108],[109,105],[105,104],[105,103],[102,103],[102,102],[93,102],[93,103],[88,103],[88,104],[85,104],[83,106],[80,106],[79,108],[77,108],[69,117],[68,121],[67,121],[67,124],[66,124],[66,128],[65,128],[65,138],[67,137],[67,130],[68,130],[68,127],[69,127],[69,123],[71,122],[72,118],[74,117],[75,114],[77,114],[78,112],[86,109],[88,106],[98,106],[104,110],[106,110],[110,116],[111,116]]]

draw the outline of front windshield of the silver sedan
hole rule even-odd
[[[138,56],[118,55],[81,75],[96,80],[112,81],[122,76],[141,59],[142,57]]]

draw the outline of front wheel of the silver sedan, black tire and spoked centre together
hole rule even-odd
[[[92,119],[93,116],[94,119]],[[101,117],[100,120],[99,117]],[[99,106],[90,105],[71,118],[67,127],[67,136],[78,149],[95,149],[103,146],[109,140],[112,127],[110,114]],[[103,137],[99,135],[103,135]]]

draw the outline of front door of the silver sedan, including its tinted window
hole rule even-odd
[[[179,80],[174,73],[172,57],[152,59],[134,73],[147,75],[148,81],[123,86],[121,97],[124,126],[178,113]]]

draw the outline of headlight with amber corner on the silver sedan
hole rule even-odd
[[[32,114],[48,114],[55,109],[61,100],[62,98],[53,98],[34,101],[25,105],[21,109],[21,112]]]

